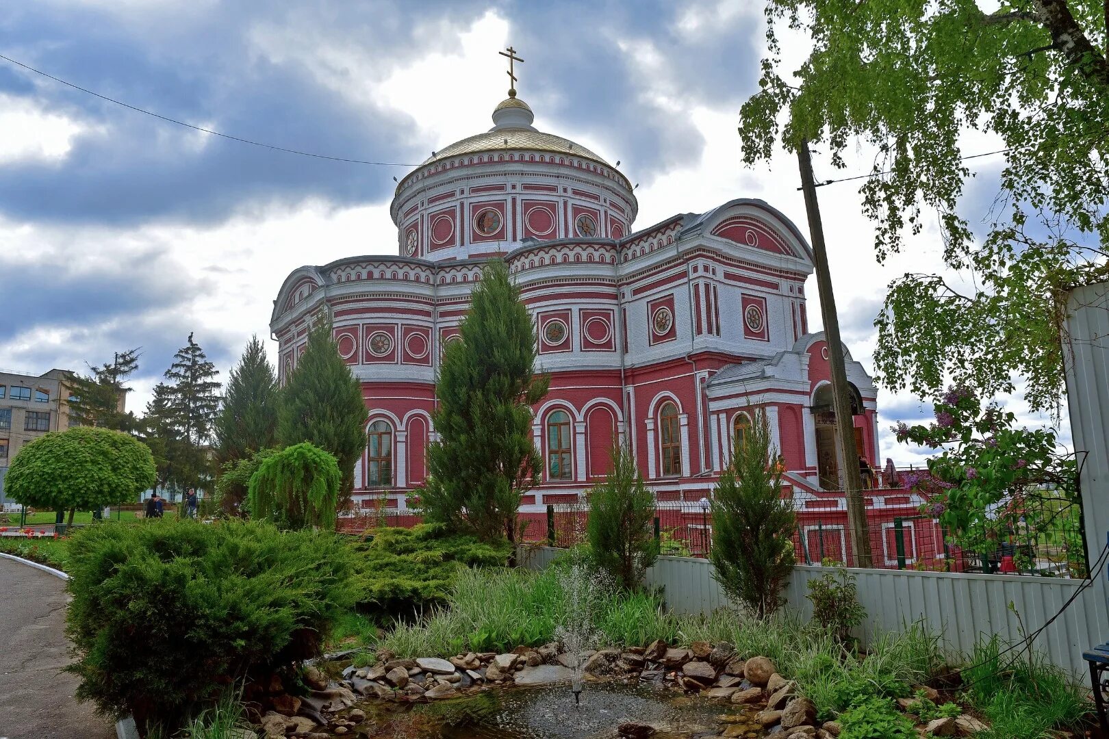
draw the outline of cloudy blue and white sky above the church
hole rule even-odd
[[[489,127],[508,82],[497,52],[512,44],[536,126],[640,184],[637,227],[760,197],[804,230],[795,158],[741,163],[737,111],[757,90],[764,31],[754,0],[38,0],[6,8],[0,54],[196,126],[411,165]],[[805,40],[785,52],[800,61]],[[865,173],[858,153],[841,172],[817,152],[817,179]],[[979,160],[978,182],[1000,166]],[[409,170],[221,138],[0,60],[0,368],[83,370],[142,347],[128,399],[141,412],[194,332],[225,380],[252,333],[275,353],[272,302],[294,268],[396,253],[388,205]],[[975,187],[965,217],[980,223],[995,194]],[[879,266],[857,184],[820,197],[843,338],[873,371],[886,285],[937,270],[938,227]],[[816,330],[814,278],[806,294]],[[1005,400],[1028,417],[1019,396]],[[878,408],[883,459],[922,463],[889,427],[930,404],[881,389]]]

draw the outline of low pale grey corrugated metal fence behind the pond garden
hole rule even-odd
[[[541,569],[562,550],[521,547],[521,565]],[[826,567],[798,566],[786,588],[787,606],[802,617],[812,616],[805,598],[806,583]],[[977,575],[898,569],[848,569],[858,585],[858,599],[867,618],[858,629],[866,645],[879,634],[898,632],[906,624],[923,620],[942,634],[950,655],[968,654],[983,635],[998,634],[1007,640],[1022,638],[1024,628],[1044,628],[1035,646],[1055,664],[1082,679],[1088,669],[1082,651],[1109,638],[1109,614],[1098,588],[1082,587],[1086,581],[1020,575]],[[692,557],[659,557],[647,573],[647,583],[662,586],[667,607],[674,613],[698,614],[728,605],[712,577],[712,565]],[[1013,603],[1020,618],[1010,608]]]

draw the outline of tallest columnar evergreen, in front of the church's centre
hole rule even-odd
[[[536,332],[503,261],[486,267],[461,325],[447,345],[436,384],[439,441],[428,448],[428,521],[516,541],[520,496],[539,480],[531,407],[547,394],[535,374]]]

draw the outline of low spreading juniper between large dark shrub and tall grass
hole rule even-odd
[[[442,524],[377,528],[354,546],[362,607],[394,616],[446,603],[460,567],[502,566],[510,553],[503,542],[486,544]]]

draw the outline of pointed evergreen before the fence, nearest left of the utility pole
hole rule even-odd
[[[791,500],[782,497],[782,471],[771,459],[770,429],[760,415],[736,443],[712,499],[714,576],[759,618],[777,610],[794,563],[796,520]]]

